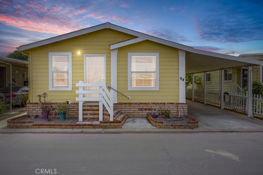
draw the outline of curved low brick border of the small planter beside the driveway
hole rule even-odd
[[[147,115],[151,124],[157,128],[166,128],[166,129],[194,129],[198,128],[198,120],[186,115],[186,117],[192,119],[193,121],[188,121],[187,124],[165,124],[163,121],[155,120],[150,114]]]

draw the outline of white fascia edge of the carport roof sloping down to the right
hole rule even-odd
[[[219,54],[216,52],[210,52],[210,51],[199,50],[199,49],[193,49],[193,51],[191,51],[191,52],[193,52],[195,54],[219,57],[219,58],[223,58],[223,59],[227,59],[227,60],[240,61],[240,62],[255,64],[255,65],[262,65],[262,61],[252,60],[252,59],[247,59],[247,58],[242,58],[242,57],[237,57],[237,56],[232,56],[232,55],[226,55],[226,54]]]

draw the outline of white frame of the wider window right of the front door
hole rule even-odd
[[[155,56],[155,87],[131,87],[131,56]],[[128,91],[159,91],[159,53],[128,53]]]

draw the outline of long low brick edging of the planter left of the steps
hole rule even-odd
[[[128,118],[125,114],[120,120],[115,121],[100,121],[98,124],[50,124],[50,123],[39,123],[34,124],[34,121],[15,121],[17,119],[29,117],[28,114],[18,116],[7,120],[8,128],[57,128],[57,129],[84,129],[84,128],[122,128],[124,121]]]

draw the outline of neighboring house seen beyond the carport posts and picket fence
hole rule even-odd
[[[259,60],[263,61],[263,53],[259,54],[241,54],[238,57]],[[262,77],[262,65],[261,66],[252,66],[252,81],[263,82]],[[231,92],[241,92],[248,84],[248,66],[243,66],[239,68],[226,69],[224,71],[224,91]],[[204,73],[195,74],[201,77],[200,82],[195,84],[195,88],[202,89],[204,88],[204,80],[206,81],[206,89],[209,90],[219,90],[221,82],[221,71],[211,71]],[[205,76],[205,78],[204,78]],[[189,86],[191,87],[191,85]]]

